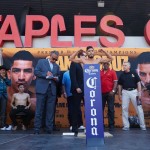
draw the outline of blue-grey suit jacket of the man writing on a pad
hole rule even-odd
[[[46,79],[47,72],[52,72],[53,76],[58,77],[57,81]],[[45,94],[49,84],[51,84],[52,94],[56,95],[56,83],[59,81],[60,67],[53,63],[53,70],[51,70],[47,59],[40,59],[35,67],[34,74],[36,78],[36,93]]]

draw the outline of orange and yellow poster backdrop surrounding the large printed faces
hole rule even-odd
[[[38,59],[40,58],[46,58],[49,56],[50,51],[57,50],[60,53],[59,59],[57,61],[57,64],[60,65],[62,73],[64,73],[66,70],[69,69],[70,61],[68,56],[73,53],[74,51],[77,51],[79,48],[2,48],[2,55],[3,55],[3,64],[5,64],[7,67],[10,67],[11,64],[11,58],[12,56],[20,50],[27,50],[35,57],[35,62],[37,63]],[[85,48],[82,48],[85,50]],[[112,61],[110,67],[114,69],[117,72],[117,76],[119,77],[120,73],[122,72],[122,63],[124,61],[130,61],[131,62],[131,68],[133,70],[137,67],[136,58],[138,55],[140,55],[143,52],[149,52],[150,48],[104,48],[106,51],[112,54],[114,60]],[[99,53],[99,48],[95,48],[95,58],[98,57],[106,57],[103,55],[103,53]],[[150,59],[150,58],[149,58]],[[32,91],[32,93],[35,93],[34,85],[35,81],[33,80],[29,90]],[[35,94],[34,94],[35,95]],[[9,97],[11,99],[11,97]],[[31,97],[32,98],[32,97]],[[33,99],[36,99],[33,97]],[[143,102],[143,109],[145,114],[145,122],[146,126],[150,127],[150,96],[147,95],[147,99],[149,100],[148,103],[144,104]],[[9,105],[9,103],[8,103]],[[84,106],[82,105],[82,112],[84,114]],[[9,106],[8,106],[9,107]],[[8,112],[10,109],[8,109]],[[104,121],[107,125],[108,118],[107,118],[107,109],[105,109],[104,112]],[[9,114],[9,113],[8,113]],[[122,127],[122,111],[121,111],[121,102],[118,100],[118,95],[115,96],[115,125],[116,127]],[[135,116],[135,110],[132,105],[130,105],[129,108],[129,115]],[[67,119],[67,101],[62,96],[58,97],[58,103],[56,106],[56,124],[60,127],[68,127],[68,119]],[[83,115],[84,119],[84,115]],[[10,120],[8,119],[8,122]]]

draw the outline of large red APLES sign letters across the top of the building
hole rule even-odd
[[[112,21],[117,26],[123,26],[123,21],[115,15],[104,16],[99,23],[101,31],[107,35],[114,37],[116,42],[110,42],[106,37],[100,37],[99,42],[103,47],[121,47],[125,41],[124,33],[114,27],[108,26],[108,22]],[[65,20],[61,15],[55,15],[49,20],[42,15],[27,15],[25,21],[25,41],[24,44],[21,41],[18,26],[14,15],[7,15],[5,19],[0,15],[0,47],[3,47],[5,42],[13,41],[16,47],[32,47],[33,38],[39,38],[46,36],[49,29],[51,31],[51,47],[72,47],[72,41],[58,41],[58,31],[65,32]],[[34,30],[33,25],[35,22],[42,24],[41,29]],[[96,23],[96,16],[74,16],[74,46],[86,47],[91,45],[97,47],[97,41],[82,41],[82,36],[95,35],[96,28],[84,28],[81,27],[82,23]],[[8,29],[11,29],[11,33],[8,34]],[[144,29],[144,37],[147,43],[150,45],[150,21],[147,22]]]

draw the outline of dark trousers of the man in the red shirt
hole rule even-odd
[[[114,127],[114,96],[111,96],[109,92],[102,94],[103,114],[106,102],[108,105],[108,125],[111,128]]]

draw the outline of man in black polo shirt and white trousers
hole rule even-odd
[[[141,99],[140,78],[136,72],[130,71],[130,62],[123,63],[124,72],[118,81],[119,100],[122,99],[123,130],[129,130],[128,107],[130,100],[138,114],[141,130],[146,130],[142,105],[137,105],[136,97]]]

